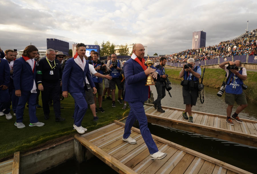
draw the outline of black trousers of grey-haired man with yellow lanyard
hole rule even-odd
[[[41,92],[43,111],[45,115],[50,114],[49,101],[53,99],[53,109],[55,111],[55,118],[61,116],[60,109],[60,82],[57,83],[42,83],[44,90]]]

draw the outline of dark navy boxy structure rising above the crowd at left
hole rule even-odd
[[[63,52],[63,54],[69,56],[69,42],[65,42],[59,39],[47,39],[47,49],[54,49]]]

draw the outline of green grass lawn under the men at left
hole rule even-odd
[[[116,90],[117,92],[118,90]],[[118,96],[118,94],[116,94]],[[61,110],[61,116],[66,120],[63,122],[55,122],[55,114],[53,111],[53,106],[50,107],[50,118],[49,120],[44,119],[41,95],[39,96],[39,104],[41,108],[37,108],[37,118],[40,122],[44,122],[45,126],[42,127],[29,127],[29,115],[28,108],[24,109],[23,123],[26,125],[25,128],[17,128],[14,126],[15,116],[11,120],[6,120],[5,116],[0,117],[1,134],[0,134],[0,161],[3,158],[12,156],[14,152],[29,151],[42,143],[49,140],[56,139],[58,137],[74,135],[77,131],[73,130],[73,111],[74,111],[74,100],[72,96],[65,98],[61,101],[61,106],[64,109]],[[128,115],[129,109],[122,110],[123,104],[119,104],[116,99],[116,108],[111,106],[111,100],[105,100],[102,102],[102,107],[105,113],[98,112],[97,116],[99,120],[97,122],[93,121],[93,114],[88,108],[82,126],[87,128],[88,131],[95,130],[107,124],[113,122],[113,120],[121,119]],[[97,101],[97,107],[98,107]],[[11,114],[13,112],[11,111]]]

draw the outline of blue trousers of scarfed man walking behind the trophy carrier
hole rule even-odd
[[[74,124],[79,127],[87,111],[86,94],[85,92],[71,92],[70,94],[75,101]]]

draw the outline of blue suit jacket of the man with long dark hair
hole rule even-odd
[[[35,60],[34,60],[35,61]],[[15,90],[22,90],[25,92],[31,91],[33,88],[34,80],[36,81],[36,67],[34,73],[29,63],[23,57],[18,58],[13,64],[13,84]]]

